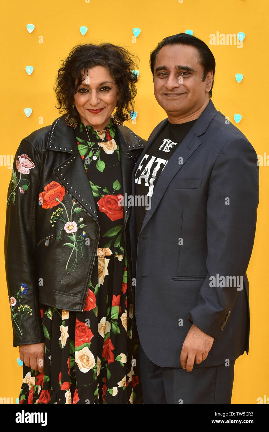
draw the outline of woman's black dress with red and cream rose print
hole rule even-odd
[[[91,126],[87,130],[89,137],[84,124],[75,128],[100,226],[89,289],[82,312],[40,305],[44,373],[23,365],[19,403],[141,403],[123,248],[123,207],[118,206],[118,196],[123,194],[120,149],[112,118],[98,133]],[[76,227],[66,229],[72,232]]]

